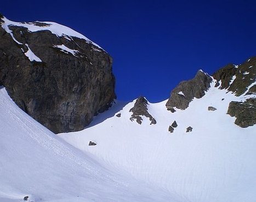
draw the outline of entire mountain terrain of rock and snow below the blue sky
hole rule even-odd
[[[255,201],[256,57],[199,70],[163,102],[111,106],[100,46],[53,22],[0,22],[1,202]]]

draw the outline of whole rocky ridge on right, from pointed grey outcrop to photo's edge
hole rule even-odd
[[[232,92],[237,100],[230,102],[227,114],[235,116],[240,127],[256,124],[256,57],[252,57],[243,64],[228,64],[220,68],[213,76],[197,72],[194,79],[180,82],[170,93],[166,103],[167,110],[175,112],[186,109],[194,98],[202,98],[215,80],[215,87]]]

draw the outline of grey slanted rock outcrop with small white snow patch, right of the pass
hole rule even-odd
[[[210,87],[211,76],[199,70],[194,79],[182,81],[170,93],[170,98],[166,103],[167,110],[174,112],[174,107],[186,109],[194,98],[202,98]]]

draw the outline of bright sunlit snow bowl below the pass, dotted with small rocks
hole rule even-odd
[[[116,102],[86,129],[59,136],[110,168],[160,187],[180,201],[255,201],[256,126],[234,124],[235,118],[226,114],[228,105],[245,96],[219,90],[215,82],[186,110],[167,111],[167,100],[150,103],[155,125],[146,117],[141,125],[129,120],[135,100]],[[217,110],[208,111],[208,106]],[[119,113],[121,117],[116,117]],[[178,127],[169,133],[173,121]],[[186,133],[189,126],[192,132]],[[88,146],[89,141],[97,145]]]

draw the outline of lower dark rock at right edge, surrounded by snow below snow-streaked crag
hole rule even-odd
[[[256,124],[256,99],[247,99],[246,102],[231,102],[227,114],[235,116],[235,124],[242,128]]]

